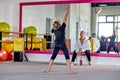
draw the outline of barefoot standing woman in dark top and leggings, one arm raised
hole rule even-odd
[[[66,27],[66,21],[67,21],[68,14],[69,14],[69,6],[66,9],[66,14],[64,16],[63,24],[61,25],[60,21],[55,21],[53,24],[53,29],[51,32],[54,33],[55,37],[56,37],[55,38],[55,47],[54,47],[51,59],[49,61],[48,68],[45,72],[50,72],[52,64],[54,62],[54,59],[56,58],[59,50],[61,49],[64,52],[64,55],[66,58],[68,73],[74,73],[70,67],[70,57],[69,57],[68,49],[67,49],[66,42],[65,42],[65,27]]]

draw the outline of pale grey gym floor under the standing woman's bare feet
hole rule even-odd
[[[77,74],[67,74],[66,65],[55,63],[50,73],[43,73],[48,63],[0,62],[0,80],[120,80],[120,66],[72,66]]]

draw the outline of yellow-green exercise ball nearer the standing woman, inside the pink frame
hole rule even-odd
[[[37,35],[37,29],[35,26],[28,26],[28,27],[24,28],[23,32],[28,33],[28,37],[31,37],[30,34],[33,34],[34,36]]]

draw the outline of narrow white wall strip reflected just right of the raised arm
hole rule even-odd
[[[79,4],[71,5],[70,9],[70,39],[71,39],[71,51],[75,49],[76,44],[76,22],[79,22]],[[79,33],[78,33],[79,34]]]

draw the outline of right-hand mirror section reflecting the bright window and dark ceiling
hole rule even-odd
[[[104,37],[101,41],[101,50],[109,53],[118,53],[120,42],[120,3],[93,3],[92,4],[92,26],[91,31],[96,32],[98,37]],[[116,38],[113,37],[115,32]],[[112,37],[111,37],[112,36]],[[114,43],[115,44],[111,44]],[[104,45],[103,45],[104,44]],[[115,48],[114,48],[115,47]],[[114,52],[115,51],[115,52]]]

